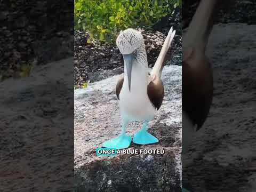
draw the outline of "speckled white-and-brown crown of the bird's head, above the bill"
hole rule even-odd
[[[143,36],[140,31],[126,29],[121,31],[116,39],[116,45],[122,54],[130,54],[143,44]]]

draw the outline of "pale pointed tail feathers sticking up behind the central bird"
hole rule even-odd
[[[154,67],[153,67],[153,69],[150,73],[151,75],[157,74],[159,77],[161,76],[162,70],[163,70],[163,67],[164,67],[165,56],[166,56],[167,51],[169,50],[169,47],[171,46],[171,43],[172,43],[172,40],[174,38],[175,32],[176,32],[176,30],[173,31],[172,27],[171,27],[167,37],[165,38],[163,47],[161,49],[161,52],[158,55],[156,63],[155,63],[155,65],[154,65]]]

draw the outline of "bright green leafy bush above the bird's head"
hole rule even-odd
[[[75,0],[75,30],[89,30],[91,38],[112,41],[119,30],[153,26],[181,0]]]

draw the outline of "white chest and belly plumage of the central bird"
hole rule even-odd
[[[124,67],[124,69],[126,68]],[[134,63],[132,68],[131,91],[129,91],[128,79],[125,75],[119,95],[119,107],[122,116],[130,121],[150,121],[154,118],[156,108],[148,98],[147,86],[147,68]]]

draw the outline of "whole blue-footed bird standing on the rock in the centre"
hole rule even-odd
[[[116,84],[122,130],[118,137],[103,142],[103,147],[124,149],[130,146],[131,141],[139,145],[158,142],[158,139],[147,131],[148,122],[154,118],[163,102],[164,86],[161,74],[174,35],[175,30],[171,27],[150,73],[141,32],[129,28],[118,35],[116,45],[124,60],[124,74]],[[143,122],[133,138],[126,134],[129,121]]]

